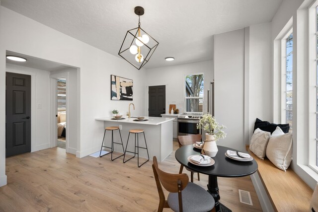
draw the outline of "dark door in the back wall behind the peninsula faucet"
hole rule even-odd
[[[149,116],[165,113],[165,85],[149,86]]]

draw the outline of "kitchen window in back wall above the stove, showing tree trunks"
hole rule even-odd
[[[185,75],[185,112],[203,112],[203,79],[203,73]]]

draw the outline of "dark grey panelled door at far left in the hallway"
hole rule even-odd
[[[6,72],[5,156],[31,151],[31,76]]]

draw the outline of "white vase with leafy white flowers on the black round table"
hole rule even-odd
[[[205,134],[203,145],[204,153],[210,157],[215,157],[218,153],[216,141],[226,137],[227,134],[223,131],[223,129],[226,129],[226,126],[220,125],[210,113],[207,113],[201,117],[197,124],[197,129],[205,130],[207,132]]]

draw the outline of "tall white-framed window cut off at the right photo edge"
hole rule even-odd
[[[308,166],[318,173],[317,164],[317,10],[318,0],[308,10],[309,24],[309,143],[308,143]]]

